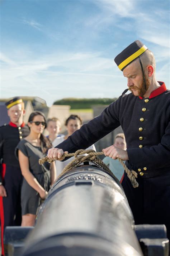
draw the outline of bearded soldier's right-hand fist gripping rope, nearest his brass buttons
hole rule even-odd
[[[102,151],[105,154],[105,156],[109,156],[112,159],[121,158],[123,161],[129,160],[127,151],[123,149],[119,149],[114,145],[110,147],[106,147]]]

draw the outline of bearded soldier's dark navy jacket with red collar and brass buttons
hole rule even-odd
[[[170,91],[159,83],[161,87],[149,98],[122,94],[57,148],[69,153],[86,149],[121,125],[129,156],[127,166],[141,178],[170,175]]]

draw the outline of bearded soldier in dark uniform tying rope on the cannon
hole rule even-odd
[[[155,58],[140,41],[134,41],[115,63],[127,78],[126,91],[100,116],[91,120],[55,149],[50,159],[63,160],[69,153],[85,149],[121,125],[127,150],[112,145],[105,156],[126,160],[138,173],[139,186],[133,188],[127,174],[122,181],[136,224],[165,224],[170,239],[170,91],[155,77]]]

